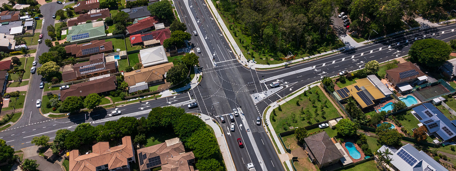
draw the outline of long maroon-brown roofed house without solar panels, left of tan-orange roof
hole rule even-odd
[[[70,96],[87,96],[91,93],[103,93],[115,90],[116,87],[115,75],[98,78],[83,83],[73,84],[70,85],[70,88],[61,90],[61,100],[63,101],[65,98]]]

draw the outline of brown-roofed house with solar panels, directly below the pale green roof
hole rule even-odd
[[[98,48],[97,48],[98,47]],[[98,53],[110,53],[113,52],[112,41],[98,40],[90,41],[84,44],[72,44],[65,46],[67,53],[75,57],[89,57],[90,55]]]

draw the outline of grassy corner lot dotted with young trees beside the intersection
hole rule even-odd
[[[310,97],[311,99],[317,99],[318,95],[315,93],[315,91],[318,91],[318,94],[320,95],[320,101],[316,100],[315,105],[312,106],[308,97]],[[301,98],[302,100],[300,100],[299,98]],[[299,100],[300,106],[296,106],[297,100]],[[325,118],[322,118],[320,106],[326,100],[327,103],[326,107],[324,108],[326,114]],[[305,114],[300,114],[301,107],[304,108],[304,111],[306,111],[306,109],[310,111],[312,119],[306,120]],[[290,126],[287,125],[287,123],[289,123],[293,127],[305,127],[310,125],[308,121],[310,121],[311,124],[315,124],[317,122],[321,122],[327,119],[332,119],[340,116],[337,112],[337,109],[331,104],[331,101],[329,101],[329,99],[326,98],[325,94],[321,91],[319,87],[311,88],[311,93],[307,93],[306,96],[304,94],[301,94],[300,96],[289,100],[287,103],[283,104],[281,108],[282,111],[279,111],[278,108],[275,109],[277,116],[275,116],[274,119],[272,119],[272,114],[270,118],[271,124],[273,125],[274,130],[277,134],[289,130]],[[318,116],[316,116],[315,114],[315,109],[317,109],[317,112],[319,114]],[[295,114],[295,119],[297,121],[296,123],[294,123],[291,118],[292,114]]]

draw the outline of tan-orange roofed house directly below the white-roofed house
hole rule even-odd
[[[137,92],[148,89],[150,86],[164,83],[166,72],[168,72],[173,63],[164,63],[153,67],[146,67],[132,72],[124,72],[125,82],[128,83],[128,92]]]

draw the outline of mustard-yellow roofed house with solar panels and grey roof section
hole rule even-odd
[[[356,83],[337,89],[338,100],[353,97],[362,109],[373,106],[376,101],[390,98],[391,90],[386,87],[375,75],[355,80]]]

